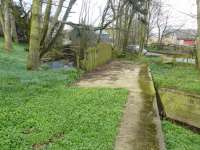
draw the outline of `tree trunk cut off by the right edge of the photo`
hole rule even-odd
[[[197,0],[197,30],[198,35],[196,39],[196,65],[200,69],[200,0]]]

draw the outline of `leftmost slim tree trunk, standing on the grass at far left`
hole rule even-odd
[[[11,37],[11,22],[10,22],[10,8],[9,0],[5,0],[4,3],[4,48],[8,51],[12,49],[12,37]]]

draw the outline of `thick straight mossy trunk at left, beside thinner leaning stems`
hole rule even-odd
[[[41,2],[39,0],[33,0],[29,54],[27,62],[28,70],[37,70],[40,65],[40,13]]]

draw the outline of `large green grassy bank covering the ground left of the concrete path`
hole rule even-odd
[[[0,48],[1,149],[112,149],[128,92],[70,87],[76,69],[28,72],[24,47]]]

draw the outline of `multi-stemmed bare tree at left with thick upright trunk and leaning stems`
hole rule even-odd
[[[71,9],[76,0],[70,0],[66,7],[62,20],[59,20],[60,13],[64,7],[64,0],[60,0],[57,5],[56,13],[54,14],[51,24],[51,6],[54,5],[52,0],[40,1],[33,0],[32,4],[32,21],[31,34],[29,44],[29,55],[27,69],[37,70],[40,65],[40,59],[53,47],[55,41],[63,31],[65,22],[71,13]],[[46,4],[44,17],[42,17],[42,5]]]

